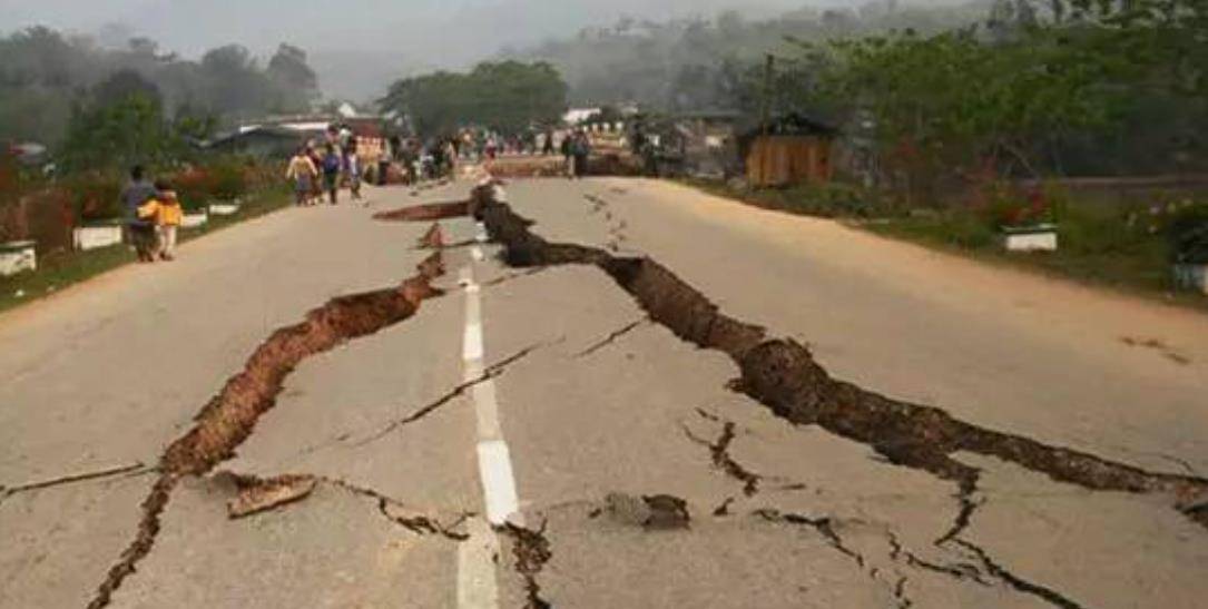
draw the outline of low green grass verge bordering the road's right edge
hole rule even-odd
[[[875,234],[980,262],[1208,311],[1208,297],[1174,290],[1166,239],[1144,226],[1128,227],[1120,208],[1071,202],[1059,219],[1058,251],[1018,254],[1004,251],[997,231],[959,210],[904,214],[900,209],[860,204],[844,192],[819,196],[809,188],[751,191],[702,180],[683,184],[761,209],[836,219]]]

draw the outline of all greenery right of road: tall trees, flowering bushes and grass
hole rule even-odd
[[[695,184],[1204,304],[1173,292],[1175,265],[1208,263],[1206,6],[998,0],[963,27],[795,37],[768,97],[750,65],[728,99],[836,126],[834,182]],[[1011,231],[1049,224],[1057,251],[1003,250]]]

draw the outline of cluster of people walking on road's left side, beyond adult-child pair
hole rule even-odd
[[[324,196],[339,204],[339,191],[348,186],[353,201],[362,201],[362,168],[356,151],[356,137],[347,127],[327,127],[321,146],[308,141],[290,160],[285,178],[294,182],[298,207],[316,205]]]

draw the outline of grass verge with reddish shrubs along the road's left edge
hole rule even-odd
[[[250,197],[239,213],[231,216],[210,216],[209,222],[193,230],[182,230],[181,242],[199,239],[230,226],[260,218],[292,203],[290,192],[272,190]],[[127,245],[114,245],[89,251],[62,251],[39,256],[37,271],[0,278],[0,312],[35,302],[70,285],[86,282],[117,267],[133,263],[134,253]]]

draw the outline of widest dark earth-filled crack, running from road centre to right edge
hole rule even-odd
[[[1162,493],[1173,506],[1208,526],[1201,505],[1208,480],[1150,472],[1093,454],[1049,446],[1030,437],[986,429],[930,407],[893,400],[832,378],[802,344],[767,340],[762,327],[722,314],[704,295],[650,259],[617,257],[598,248],[550,243],[505,203],[490,202],[483,219],[492,238],[505,246],[504,260],[517,267],[593,265],[612,279],[650,319],[701,348],[728,354],[742,371],[734,388],[776,414],[802,425],[865,443],[898,465],[953,481],[971,497],[978,470],[952,456],[997,457],[1050,478],[1093,491]],[[962,503],[962,511],[971,510]],[[959,523],[958,523],[959,524]],[[959,527],[958,527],[959,528]]]

